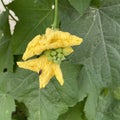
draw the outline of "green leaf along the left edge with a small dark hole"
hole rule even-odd
[[[8,13],[0,14],[0,72],[13,70],[13,55],[11,50],[11,33],[8,23]]]

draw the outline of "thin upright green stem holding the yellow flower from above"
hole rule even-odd
[[[58,0],[55,0],[55,14],[52,29],[56,29],[58,24]]]

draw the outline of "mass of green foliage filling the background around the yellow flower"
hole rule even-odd
[[[59,0],[60,29],[84,42],[61,64],[65,84],[20,69],[27,43],[53,22],[53,0],[14,0],[0,15],[0,120],[120,119],[120,0]],[[16,102],[17,101],[17,102]]]

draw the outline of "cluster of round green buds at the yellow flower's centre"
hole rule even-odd
[[[43,54],[48,57],[49,61],[52,61],[57,64],[60,64],[61,61],[65,59],[63,48],[46,50]]]

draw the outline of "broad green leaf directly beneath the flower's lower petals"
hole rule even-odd
[[[45,89],[39,90],[38,75],[18,69],[16,73],[0,75],[0,88],[25,103],[29,110],[29,120],[56,120],[68,107],[78,102],[77,76],[80,67],[65,62],[61,68],[65,80],[63,86],[54,78]]]

